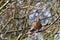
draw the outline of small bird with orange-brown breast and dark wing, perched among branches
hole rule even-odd
[[[36,30],[39,30],[42,28],[42,24],[40,22],[40,18],[35,18],[34,22],[31,25],[30,32],[33,33]]]

